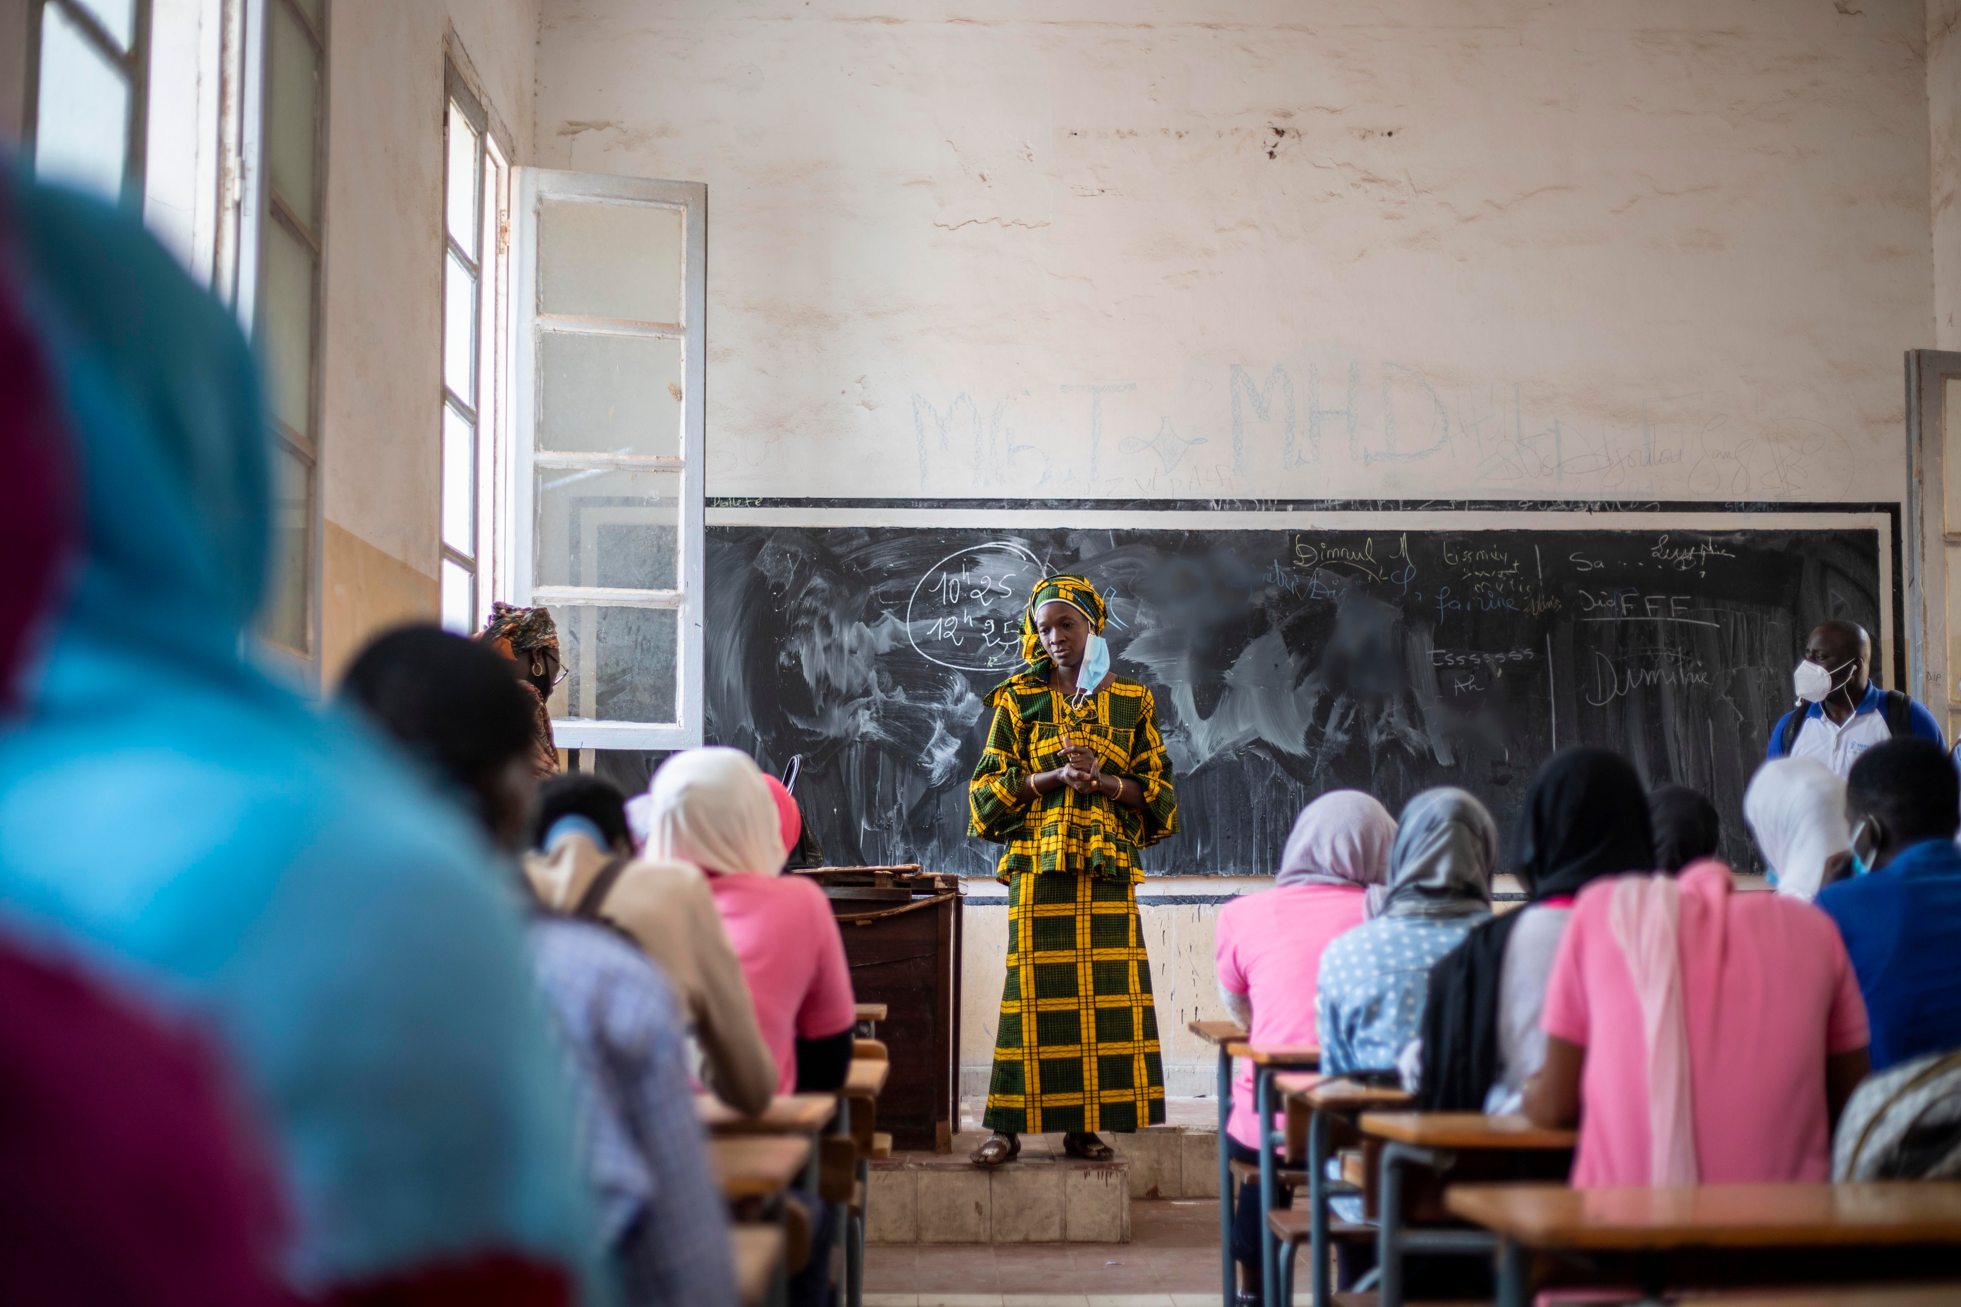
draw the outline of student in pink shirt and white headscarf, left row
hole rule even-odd
[[[786,827],[763,772],[735,749],[690,749],[661,764],[647,799],[647,856],[708,876],[777,1058],[777,1091],[835,1089],[857,1025],[851,968],[824,890],[780,874]]]

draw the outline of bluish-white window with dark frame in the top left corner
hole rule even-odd
[[[35,176],[139,206],[149,0],[31,0],[27,149]]]

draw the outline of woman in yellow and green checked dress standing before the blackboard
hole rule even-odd
[[[1104,617],[1082,576],[1043,580],[1022,615],[1028,670],[988,692],[967,833],[1006,845],[1008,984],[975,1166],[1055,1131],[1065,1152],[1102,1162],[1096,1131],[1165,1119],[1137,850],[1177,835],[1179,801],[1157,705],[1110,674]]]

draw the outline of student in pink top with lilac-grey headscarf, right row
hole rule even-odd
[[[1369,886],[1388,874],[1396,819],[1359,790],[1333,790],[1300,809],[1281,854],[1273,890],[1247,894],[1220,909],[1214,960],[1220,997],[1253,1044],[1312,1048],[1314,982],[1328,943],[1363,921]],[[1253,1066],[1239,1064],[1233,1080],[1228,1152],[1235,1162],[1259,1162],[1259,1121],[1253,1111]],[[1281,1191],[1290,1203],[1292,1193]],[[1243,1186],[1233,1211],[1233,1260],[1243,1293],[1259,1297],[1259,1187]]]

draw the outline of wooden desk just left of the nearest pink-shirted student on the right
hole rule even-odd
[[[1361,1133],[1383,1140],[1377,1189],[1379,1307],[1402,1307],[1406,1252],[1490,1252],[1496,1246],[1488,1231],[1408,1229],[1406,1166],[1422,1166],[1437,1176],[1469,1172],[1479,1180],[1545,1170],[1565,1174],[1579,1138],[1575,1131],[1547,1131],[1524,1117],[1486,1117],[1477,1111],[1371,1111],[1361,1117]]]

